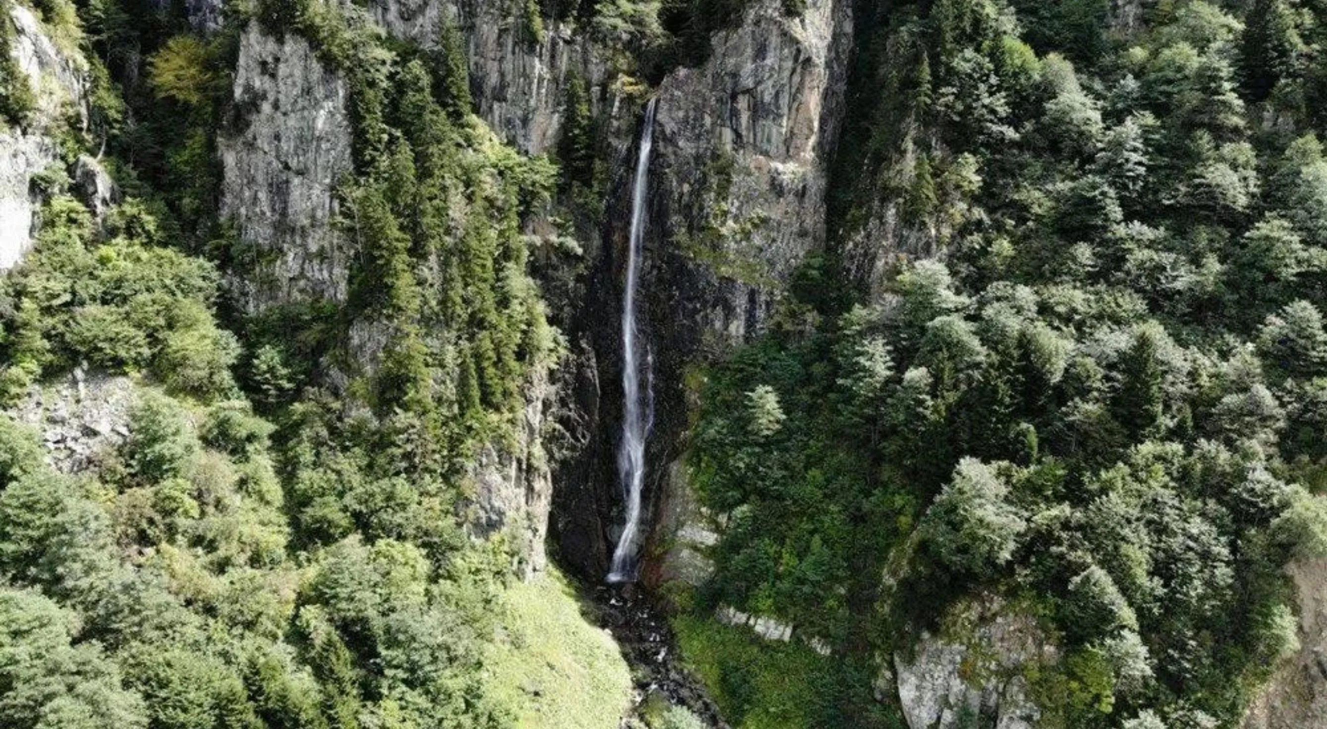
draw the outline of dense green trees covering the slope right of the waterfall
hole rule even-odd
[[[1230,726],[1327,533],[1323,16],[1108,11],[859,4],[836,245],[701,392],[698,599],[861,656],[1006,592],[1063,647],[1042,725]]]

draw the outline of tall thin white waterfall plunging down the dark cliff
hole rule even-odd
[[[645,394],[641,394],[641,361],[636,327],[636,285],[641,269],[641,237],[645,229],[645,194],[649,188],[650,146],[654,140],[654,103],[645,107],[641,148],[632,183],[632,228],[626,244],[626,289],[622,292],[622,440],[617,447],[617,476],[626,502],[626,522],[613,549],[608,582],[636,579],[636,553],[641,532],[641,490],[645,488],[645,440],[654,419],[653,357],[645,355]],[[644,412],[642,412],[644,411]]]

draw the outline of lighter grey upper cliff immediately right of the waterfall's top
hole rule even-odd
[[[669,302],[699,318],[686,325],[743,341],[824,244],[851,34],[841,0],[812,0],[798,17],[754,3],[739,27],[715,34],[705,65],[664,80],[654,168],[667,249],[657,256],[685,258],[682,276],[709,280],[695,293],[711,293],[656,292],[694,300]]]

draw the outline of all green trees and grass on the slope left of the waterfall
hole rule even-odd
[[[62,162],[105,152],[126,199],[97,217],[57,164],[0,281],[0,725],[617,726],[616,648],[474,528],[475,452],[515,437],[555,347],[522,221],[556,168],[471,115],[454,40],[394,44],[321,3],[227,5],[203,37],[149,5],[58,15],[101,74]],[[350,82],[346,301],[243,311],[227,289],[269,254],[218,219],[251,13]],[[20,102],[0,90],[7,121]],[[357,349],[362,327],[381,347]],[[61,473],[16,418],[72,371],[127,378],[135,403],[106,424],[118,445]]]

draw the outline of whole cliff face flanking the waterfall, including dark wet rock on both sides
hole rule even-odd
[[[775,0],[752,3],[739,24],[711,38],[699,68],[673,70],[657,90],[640,286],[656,383],[650,524],[669,514],[648,547],[644,574],[656,586],[677,570],[698,577],[699,553],[675,537],[707,529],[686,516],[686,480],[670,477],[682,473],[674,461],[691,407],[685,372],[760,331],[791,273],[824,243],[825,159],[841,121],[851,24],[845,1],[812,0],[800,17],[784,16]],[[559,547],[591,575],[606,567],[621,522],[613,453],[628,231],[613,221],[628,219],[633,156],[620,162],[602,247],[591,253],[585,301],[572,322],[592,357],[579,361],[568,386],[588,396],[569,410],[577,423],[601,427],[560,468],[555,502]],[[673,547],[690,553],[670,554]]]

